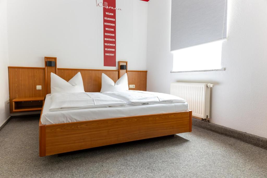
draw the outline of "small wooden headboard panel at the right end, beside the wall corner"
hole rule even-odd
[[[147,71],[128,70],[128,84],[135,85],[130,90],[147,90]]]

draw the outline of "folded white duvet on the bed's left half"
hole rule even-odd
[[[102,93],[53,93],[49,111],[124,106],[127,103]]]

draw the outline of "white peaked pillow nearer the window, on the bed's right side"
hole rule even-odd
[[[111,78],[102,73],[102,86],[100,91],[101,93],[124,90],[129,90],[127,73],[121,76],[119,80],[117,80],[116,84]]]

